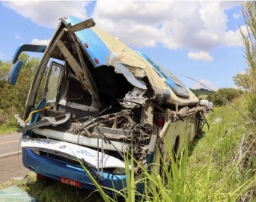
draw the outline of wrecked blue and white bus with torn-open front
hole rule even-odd
[[[48,46],[16,49],[8,82],[16,83],[21,52],[43,53],[24,117],[16,115],[25,168],[96,189],[81,159],[101,185],[121,190],[126,153],[145,167],[170,162],[168,151],[180,155],[200,132],[205,107],[165,67],[94,25],[62,17]]]

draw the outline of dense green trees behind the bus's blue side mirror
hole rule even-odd
[[[26,53],[19,55],[19,59],[24,62],[15,86],[9,85],[6,80],[12,63],[0,62],[0,120],[4,117],[4,123],[10,125],[16,124],[15,114],[23,114],[28,91],[39,64],[39,58],[30,58]]]

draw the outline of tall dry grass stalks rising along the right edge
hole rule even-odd
[[[242,13],[244,22],[246,24],[246,31],[240,28],[242,35],[243,44],[245,46],[245,58],[248,64],[246,68],[249,74],[249,92],[246,100],[246,110],[249,112],[249,117],[252,121],[256,121],[256,2],[245,1],[242,4]],[[244,173],[245,178],[256,174],[256,124],[252,123],[248,126],[249,134],[243,143],[241,151],[249,150],[246,157],[244,158],[243,164],[240,166]],[[250,145],[252,144],[252,147]],[[255,198],[256,196],[256,185],[254,185],[248,192],[246,192],[247,198]]]

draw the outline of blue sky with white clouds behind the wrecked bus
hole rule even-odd
[[[49,43],[67,15],[93,18],[188,88],[235,88],[232,76],[247,67],[241,1],[0,1],[0,60],[22,43]]]

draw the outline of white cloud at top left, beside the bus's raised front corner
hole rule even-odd
[[[86,19],[88,1],[4,1],[3,4],[37,25],[55,28],[61,16]]]

